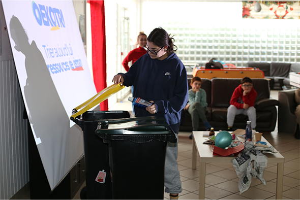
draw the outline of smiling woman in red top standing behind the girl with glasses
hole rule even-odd
[[[147,44],[147,36],[146,36],[146,34],[144,34],[144,32],[139,33],[139,35],[137,37],[137,43],[138,43],[139,47],[130,51],[122,62],[122,65],[124,66],[126,72],[129,71],[128,62],[132,61],[132,64],[133,64],[142,55],[147,53],[147,51],[143,48]]]

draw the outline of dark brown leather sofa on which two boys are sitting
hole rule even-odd
[[[189,89],[191,78],[188,78]],[[277,120],[276,106],[279,102],[270,98],[269,83],[266,79],[252,79],[253,87],[257,92],[255,101],[256,130],[260,132],[271,132],[275,129]],[[202,79],[201,88],[206,91],[206,102],[208,104],[206,118],[215,130],[227,130],[227,108],[234,89],[241,84],[241,79],[213,78]],[[233,130],[245,129],[248,116],[236,115]],[[192,131],[192,119],[188,111],[182,112],[181,131]],[[199,120],[198,130],[205,130],[204,124]]]

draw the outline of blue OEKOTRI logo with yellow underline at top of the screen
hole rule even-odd
[[[66,27],[64,15],[61,9],[41,4],[37,5],[35,2],[32,2],[32,9],[40,26],[50,26],[51,30],[58,30],[61,27]]]

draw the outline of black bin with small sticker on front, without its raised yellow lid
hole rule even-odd
[[[86,187],[80,192],[81,199],[112,199],[108,144],[95,130],[101,119],[129,117],[128,111],[86,111],[73,120],[83,131]]]

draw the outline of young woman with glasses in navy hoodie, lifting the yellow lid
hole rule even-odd
[[[143,110],[135,107],[135,115],[164,117],[178,134],[181,111],[188,102],[187,72],[174,53],[174,39],[163,28],[155,28],[144,46],[147,53],[141,56],[126,74],[114,76],[114,84],[134,86],[133,97],[154,103]],[[178,143],[178,141],[177,141]],[[182,192],[177,164],[177,144],[167,144],[165,160],[165,192],[177,199]]]

